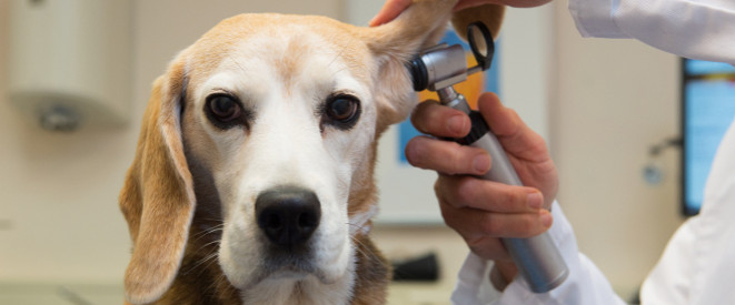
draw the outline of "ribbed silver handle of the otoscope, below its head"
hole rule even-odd
[[[461,94],[457,94],[453,100],[444,104],[466,113],[469,112],[473,123],[469,135],[464,139],[455,139],[455,141],[459,144],[480,148],[493,160],[490,170],[480,177],[509,185],[523,185],[505,150],[487,126],[483,115],[477,111],[470,111]],[[557,287],[569,274],[562,254],[547,233],[529,238],[501,238],[501,241],[535,293],[545,293]]]

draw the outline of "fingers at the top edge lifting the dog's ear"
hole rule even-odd
[[[459,0],[454,7],[453,11],[460,11],[467,8],[479,7],[483,4],[501,4],[516,8],[530,8],[543,6],[550,1],[552,0]],[[380,26],[396,19],[396,17],[406,10],[410,3],[411,0],[387,0],[378,14],[376,14],[375,18],[370,20],[370,27]]]

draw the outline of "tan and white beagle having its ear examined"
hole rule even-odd
[[[415,106],[405,62],[455,2],[415,1],[377,28],[241,14],[181,51],[153,84],[119,199],[126,304],[384,304],[376,140]],[[497,30],[501,14],[455,26]]]

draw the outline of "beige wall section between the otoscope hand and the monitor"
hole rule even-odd
[[[678,215],[678,152],[643,181],[649,145],[678,134],[678,60],[630,40],[583,39],[556,1],[556,98],[549,105],[559,202],[580,250],[624,296],[660,255]]]

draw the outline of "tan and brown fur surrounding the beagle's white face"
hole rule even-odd
[[[187,92],[207,80],[238,42],[252,31],[268,31],[279,24],[299,22],[346,50],[349,69],[374,92],[378,106],[376,140],[389,124],[405,119],[415,104],[404,61],[444,31],[454,1],[423,0],[397,20],[362,29],[321,17],[239,16],[222,21],[177,57],[159,78],[143,116],[136,159],[127,173],[119,202],[132,238],[132,256],[126,271],[128,302],[156,304],[241,304],[240,292],[224,275],[216,260],[221,238],[221,206],[213,186],[211,164],[189,153],[208,139],[182,125],[192,120]],[[495,9],[490,19],[499,19]],[[487,17],[486,17],[487,18]],[[499,22],[497,23],[499,27]],[[427,29],[429,31],[427,31]],[[497,29],[494,29],[497,30]],[[494,31],[497,32],[497,31]],[[292,42],[296,53],[309,45]],[[362,45],[362,47],[359,47]],[[368,54],[369,53],[369,54]],[[362,59],[373,58],[374,62]],[[285,60],[277,69],[290,75],[299,62]],[[196,67],[185,71],[187,64]],[[375,144],[370,152],[375,163]],[[350,216],[376,204],[373,167],[355,173],[348,203]],[[368,223],[369,224],[369,223]],[[351,304],[384,304],[390,271],[386,260],[367,235],[352,236],[356,248],[356,283]]]

